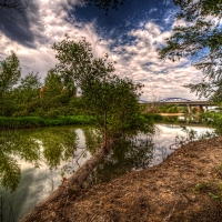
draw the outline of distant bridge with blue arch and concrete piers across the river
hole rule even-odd
[[[208,107],[212,107],[212,105],[216,105],[213,102],[210,101],[204,101],[204,100],[188,100],[184,98],[165,98],[165,99],[161,99],[158,101],[145,101],[145,100],[140,100],[139,101],[142,104],[160,104],[160,105],[164,105],[164,104],[172,104],[172,105],[179,105],[179,107],[188,107],[189,113],[191,113],[191,110],[193,107],[196,107],[200,111],[206,112],[208,111]]]

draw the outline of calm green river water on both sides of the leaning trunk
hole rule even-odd
[[[84,185],[110,181],[162,162],[175,138],[186,133],[175,124],[155,124],[158,132],[121,140]],[[199,135],[213,129],[188,127]],[[53,127],[0,132],[0,221],[17,222],[95,153],[95,129]]]

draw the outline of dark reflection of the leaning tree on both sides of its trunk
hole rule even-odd
[[[98,133],[83,130],[89,144],[98,145],[101,138]],[[94,134],[94,137],[92,137]],[[99,138],[99,139],[98,139]],[[88,144],[88,143],[87,143]],[[117,141],[108,157],[97,167],[85,184],[108,182],[133,170],[148,168],[153,160],[154,143],[149,135],[122,137]],[[93,152],[93,147],[89,148]]]

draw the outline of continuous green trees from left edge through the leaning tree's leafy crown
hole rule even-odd
[[[84,38],[75,42],[69,36],[54,43],[52,49],[57,51],[59,63],[48,71],[43,83],[38,73],[21,77],[14,52],[0,62],[2,121],[6,122],[6,117],[51,120],[65,120],[64,115],[91,117],[103,132],[104,141],[129,131],[153,132],[152,121],[142,115],[138,102],[143,85],[114,74],[108,54],[94,58],[91,44]]]

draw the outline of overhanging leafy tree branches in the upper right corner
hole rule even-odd
[[[173,28],[167,47],[159,50],[160,59],[172,61],[189,58],[204,73],[199,84],[185,85],[200,97],[221,92],[222,71],[222,1],[221,0],[173,0],[180,7],[178,20],[184,26]],[[218,91],[219,90],[219,91]],[[218,98],[218,97],[216,97]]]

